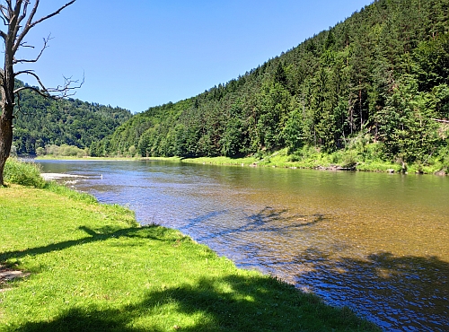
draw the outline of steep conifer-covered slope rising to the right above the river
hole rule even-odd
[[[448,12],[449,0],[375,1],[237,79],[136,115],[94,152],[332,152],[363,137],[380,158],[428,162],[447,153]]]

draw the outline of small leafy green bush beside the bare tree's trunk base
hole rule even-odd
[[[40,176],[39,165],[34,162],[19,162],[16,158],[6,161],[4,181],[35,188],[45,186],[45,180]]]

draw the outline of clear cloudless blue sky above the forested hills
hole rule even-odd
[[[41,0],[38,16],[66,2]],[[48,87],[63,83],[63,75],[84,74],[74,98],[141,112],[237,78],[371,3],[76,0],[31,31],[27,40],[37,48],[49,33],[53,39],[26,67]]]

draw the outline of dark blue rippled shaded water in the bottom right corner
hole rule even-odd
[[[449,326],[449,264],[436,257],[330,258],[307,249],[292,262],[297,284],[331,304],[348,305],[388,330],[443,331]]]

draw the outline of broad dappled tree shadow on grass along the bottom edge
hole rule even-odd
[[[168,314],[170,312],[170,315]],[[186,319],[186,320],[182,320]],[[348,308],[269,277],[228,275],[146,293],[116,309],[73,308],[44,322],[5,331],[374,331]]]

